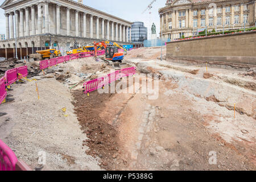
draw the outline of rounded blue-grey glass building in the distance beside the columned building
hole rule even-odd
[[[147,28],[144,27],[144,23],[133,22],[131,25],[131,42],[134,44],[143,44],[144,40],[147,40]]]

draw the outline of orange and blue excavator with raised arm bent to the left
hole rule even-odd
[[[94,42],[94,55],[97,56],[97,46],[102,46],[105,49],[106,60],[109,61],[118,61],[122,63],[124,58],[123,52],[118,52],[118,48],[115,46],[108,46],[104,41],[102,42]]]

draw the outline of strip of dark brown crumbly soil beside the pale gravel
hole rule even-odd
[[[75,102],[75,114],[79,119],[81,129],[89,139],[84,140],[83,146],[88,146],[86,154],[101,159],[100,166],[107,170],[114,169],[113,158],[119,150],[117,131],[112,125],[100,118],[100,113],[106,107],[113,94],[98,94],[97,91],[90,93],[88,97],[82,90],[73,93]]]

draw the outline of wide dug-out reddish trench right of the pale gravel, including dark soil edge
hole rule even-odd
[[[139,77],[138,73],[135,77]],[[86,154],[107,170],[251,170],[255,167],[255,120],[215,101],[178,90],[172,79],[159,80],[159,97],[73,90],[73,105],[89,139]],[[225,121],[224,121],[225,120]],[[240,121],[246,121],[242,126]],[[223,131],[227,125],[230,129]],[[244,129],[244,130],[241,130]],[[237,130],[240,133],[236,133]],[[241,131],[246,132],[241,132]],[[216,156],[214,163],[211,157]]]

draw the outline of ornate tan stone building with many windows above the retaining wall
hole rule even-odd
[[[208,31],[255,27],[255,0],[167,0],[159,9],[160,35],[171,40]]]

